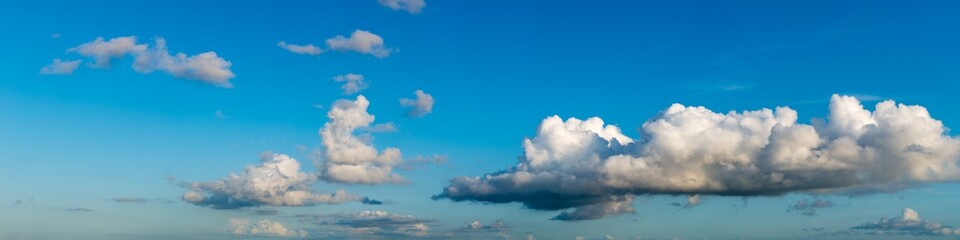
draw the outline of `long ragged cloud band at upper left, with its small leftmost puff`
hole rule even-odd
[[[230,71],[231,63],[218,56],[216,52],[171,55],[167,50],[166,40],[159,37],[155,39],[153,46],[137,43],[137,38],[134,36],[116,37],[110,40],[98,37],[92,42],[70,48],[67,52],[93,58],[94,63],[91,66],[96,68],[110,67],[113,59],[129,55],[134,57],[133,69],[137,72],[160,71],[177,78],[198,80],[225,88],[232,87],[229,80],[235,76]],[[71,74],[79,64],[80,60],[54,59],[53,63],[42,68],[40,73]]]

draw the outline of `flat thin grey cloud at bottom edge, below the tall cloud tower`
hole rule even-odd
[[[348,234],[386,238],[425,237],[429,234],[429,220],[386,211],[361,211],[331,215],[299,215],[301,221],[324,227],[336,227]]]

